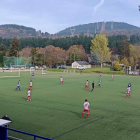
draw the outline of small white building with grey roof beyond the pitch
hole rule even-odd
[[[75,61],[72,63],[72,68],[77,68],[79,66],[84,68],[91,68],[91,65],[86,61]]]

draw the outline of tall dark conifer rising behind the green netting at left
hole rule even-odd
[[[15,56],[17,57],[17,53],[19,51],[19,39],[17,37],[14,37],[12,42],[11,42],[11,46],[10,46],[10,51],[9,51],[9,56]]]

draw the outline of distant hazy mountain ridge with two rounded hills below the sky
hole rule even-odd
[[[0,37],[13,38],[17,36],[19,38],[29,37],[65,37],[72,35],[94,35],[97,33],[105,33],[107,36],[112,35],[140,35],[140,27],[125,23],[125,22],[95,22],[88,24],[80,24],[72,27],[68,27],[55,34],[48,32],[36,31],[32,27],[26,27],[16,24],[3,24],[0,25]]]

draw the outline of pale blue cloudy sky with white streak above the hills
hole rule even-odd
[[[70,26],[120,21],[140,27],[140,0],[0,0],[0,25],[56,33]]]

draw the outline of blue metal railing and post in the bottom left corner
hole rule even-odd
[[[27,132],[16,130],[16,129],[9,128],[9,127],[0,126],[0,129],[3,130],[3,131],[0,131],[0,137],[1,137],[1,135],[2,135],[2,137],[4,136],[3,137],[4,139],[2,139],[2,140],[8,140],[9,139],[8,135],[7,135],[7,130],[32,136],[32,137],[34,137],[34,140],[37,140],[37,138],[44,139],[44,140],[53,140],[53,139],[50,139],[50,138],[46,138],[46,137],[42,137],[42,136],[39,136],[39,135],[27,133]]]

